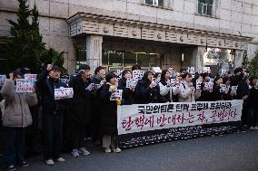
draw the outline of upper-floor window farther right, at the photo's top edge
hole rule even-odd
[[[213,0],[198,0],[197,14],[213,15]]]

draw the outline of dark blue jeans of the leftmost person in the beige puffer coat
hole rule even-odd
[[[5,127],[5,163],[7,166],[25,161],[25,128]]]

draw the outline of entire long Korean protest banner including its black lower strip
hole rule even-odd
[[[150,103],[117,108],[119,147],[236,131],[243,100]]]

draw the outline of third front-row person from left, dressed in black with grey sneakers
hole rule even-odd
[[[71,111],[69,119],[71,127],[69,132],[72,141],[72,156],[79,157],[79,154],[84,156],[89,155],[89,151],[85,148],[85,141],[87,129],[90,127],[92,102],[91,91],[86,88],[91,84],[90,80],[90,66],[85,65],[84,70],[80,71],[73,81],[69,82],[69,87],[74,90],[74,98],[72,100]],[[76,132],[76,134],[74,134]]]

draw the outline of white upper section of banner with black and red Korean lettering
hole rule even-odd
[[[118,106],[118,135],[241,120],[243,100]]]

